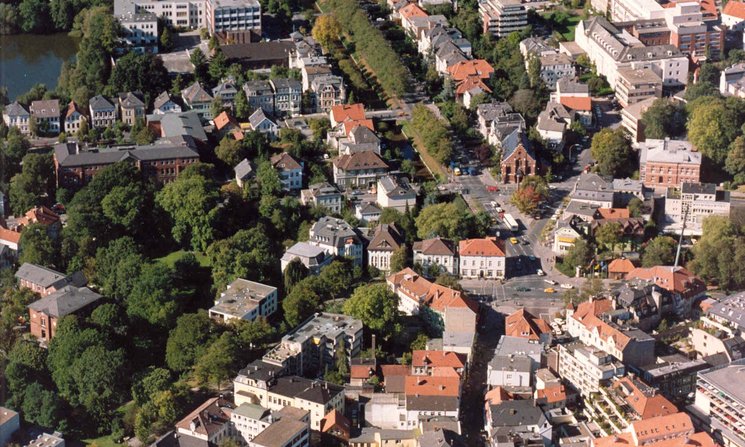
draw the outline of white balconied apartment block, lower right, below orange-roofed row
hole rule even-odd
[[[556,350],[559,376],[582,396],[600,392],[625,373],[623,364],[612,355],[580,341],[558,344]]]

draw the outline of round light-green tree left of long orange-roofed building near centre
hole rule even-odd
[[[344,302],[344,313],[357,318],[383,340],[401,331],[398,296],[385,284],[363,285]]]

